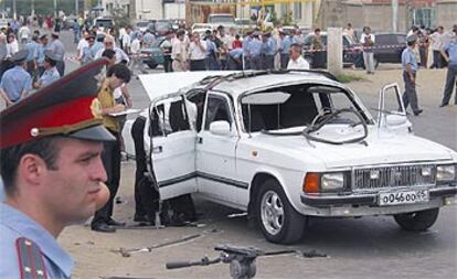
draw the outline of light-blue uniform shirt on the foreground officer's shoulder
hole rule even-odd
[[[71,278],[74,261],[56,239],[35,221],[6,203],[0,203],[0,278],[21,278],[21,272],[25,272],[23,278],[44,278],[43,272],[47,278]],[[19,253],[23,237],[35,248]],[[22,245],[22,250],[26,250],[28,244],[29,240]],[[44,268],[40,267],[42,265]]]

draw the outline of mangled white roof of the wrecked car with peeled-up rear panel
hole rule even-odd
[[[298,83],[323,83],[339,85],[325,72],[253,72],[253,71],[206,71],[148,74],[139,76],[150,100],[173,95],[180,90],[196,87],[211,87],[234,98],[240,95],[262,90],[266,87]]]

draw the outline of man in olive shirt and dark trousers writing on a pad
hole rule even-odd
[[[98,100],[102,105],[103,124],[105,128],[116,138],[116,141],[105,142],[102,161],[107,172],[108,180],[106,182],[109,189],[108,203],[98,210],[92,219],[91,227],[93,230],[103,233],[114,233],[115,227],[120,226],[111,218],[114,198],[119,187],[120,180],[120,124],[116,117],[110,114],[121,112],[124,105],[117,104],[114,96],[114,90],[130,82],[130,71],[124,64],[115,64],[108,68],[107,78],[104,81],[100,90],[98,92]]]

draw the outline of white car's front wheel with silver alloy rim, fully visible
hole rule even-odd
[[[276,180],[269,179],[261,185],[255,210],[261,230],[268,242],[293,244],[301,238],[305,216],[291,206]]]

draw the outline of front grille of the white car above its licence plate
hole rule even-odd
[[[429,174],[423,175],[425,171]],[[352,190],[434,185],[435,174],[436,167],[432,164],[355,169],[352,174]]]

